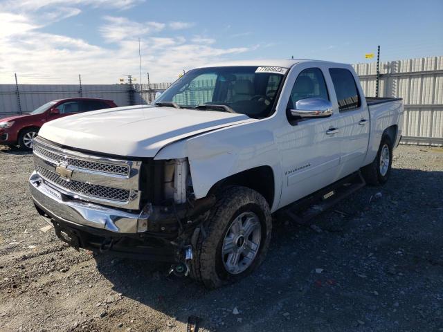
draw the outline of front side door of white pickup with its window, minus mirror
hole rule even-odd
[[[325,76],[320,68],[307,68],[300,72],[287,105],[289,121],[280,142],[283,173],[281,207],[338,180],[341,147],[332,130],[338,127],[338,114],[333,113],[328,118],[291,118],[289,109],[305,98],[329,100]]]

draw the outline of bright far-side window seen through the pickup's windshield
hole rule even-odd
[[[180,105],[198,105],[213,101],[217,74],[205,73],[198,75],[189,85],[183,86],[183,91],[174,95],[173,102]]]

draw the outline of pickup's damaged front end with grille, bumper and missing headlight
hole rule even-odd
[[[35,142],[30,192],[74,248],[167,261],[186,274],[215,197],[195,199],[188,160],[116,160]]]

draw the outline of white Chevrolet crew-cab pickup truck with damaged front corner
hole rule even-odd
[[[263,261],[274,212],[306,222],[385,183],[402,117],[401,100],[365,98],[348,64],[195,68],[151,105],[44,124],[30,192],[71,246],[217,287]]]

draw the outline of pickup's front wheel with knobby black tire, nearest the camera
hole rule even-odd
[[[192,277],[208,288],[246,277],[264,260],[271,230],[271,212],[261,194],[247,187],[226,188],[200,232]]]

